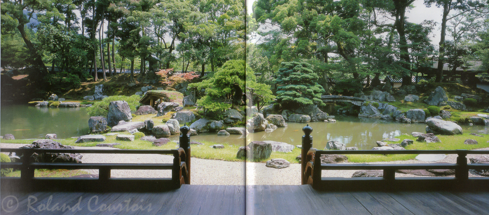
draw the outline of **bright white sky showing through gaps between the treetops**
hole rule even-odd
[[[246,11],[248,14],[252,13],[252,5],[256,0],[246,0]],[[413,23],[421,23],[424,20],[434,20],[438,22],[433,30],[433,33],[430,34],[431,43],[435,46],[438,46],[440,42],[440,22],[442,20],[443,9],[438,8],[436,6],[426,7],[423,4],[424,0],[416,0],[413,3],[414,8],[407,11],[406,17],[408,17],[409,22]],[[447,35],[448,36],[448,35]]]

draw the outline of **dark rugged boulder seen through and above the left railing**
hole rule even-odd
[[[23,149],[73,149],[58,142],[45,139],[35,140],[31,145],[21,147]],[[78,153],[34,153],[32,162],[43,163],[82,163],[82,155]]]

